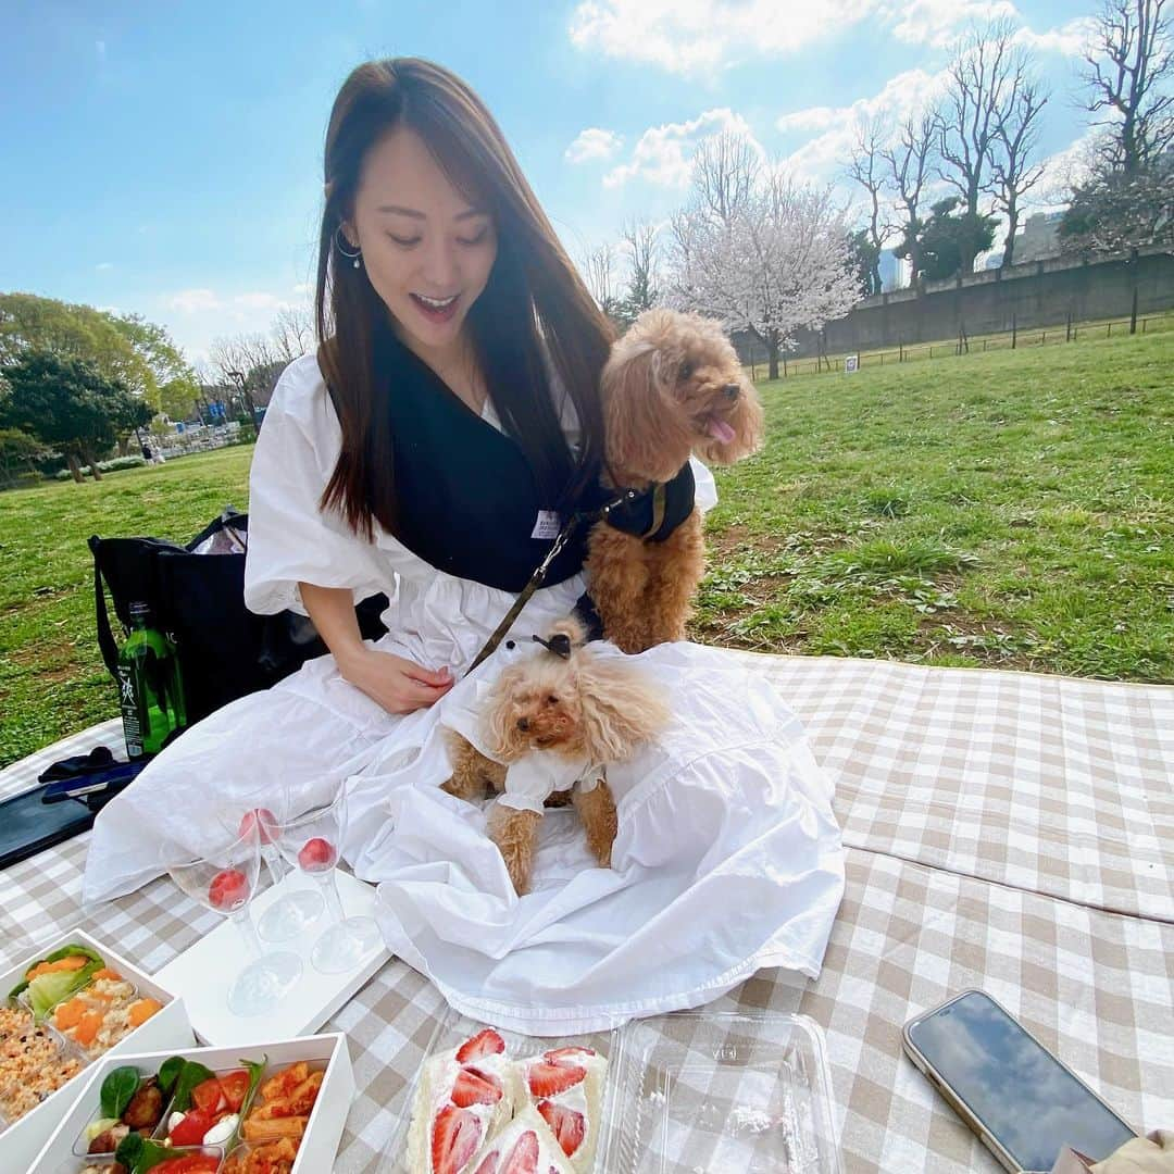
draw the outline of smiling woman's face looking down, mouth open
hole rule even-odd
[[[452,348],[490,278],[497,236],[488,212],[465,200],[407,127],[367,153],[344,234],[363,250],[403,340],[421,356]]]

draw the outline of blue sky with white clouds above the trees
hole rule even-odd
[[[741,129],[799,177],[835,180],[856,113],[916,106],[951,36],[990,15],[1021,26],[1053,88],[1041,154],[1059,175],[1086,131],[1074,99],[1093,11],[8,0],[0,289],[143,313],[190,358],[217,335],[268,329],[306,299],[330,104],[373,56],[429,56],[472,83],[575,259],[626,221],[676,208],[706,134]]]

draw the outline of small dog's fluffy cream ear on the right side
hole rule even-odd
[[[622,660],[575,656],[583,745],[593,762],[623,762],[668,724],[669,713],[643,675]]]

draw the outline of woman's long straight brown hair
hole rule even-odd
[[[454,74],[418,58],[369,61],[343,83],[326,130],[326,205],[315,299],[318,363],[342,426],[342,452],[322,495],[359,534],[397,529],[387,373],[375,370],[389,312],[365,270],[338,251],[355,210],[363,161],[396,127],[410,127],[452,184],[487,208],[498,237],[490,279],[466,319],[502,427],[525,452],[544,499],[566,505],[603,459],[599,376],[613,339],[559,243],[498,124]],[[582,433],[572,457],[551,398],[544,349],[571,394]]]

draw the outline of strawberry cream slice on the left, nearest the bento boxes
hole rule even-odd
[[[513,1115],[517,1078],[505,1050],[501,1037],[487,1027],[425,1064],[407,1139],[413,1174],[472,1174],[477,1169],[474,1160],[485,1143]]]

